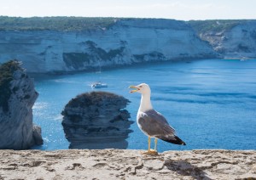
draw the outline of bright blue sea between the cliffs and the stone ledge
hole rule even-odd
[[[256,149],[256,59],[204,59],[164,62],[98,72],[59,76],[32,76],[39,97],[33,121],[42,127],[44,145],[35,149],[68,149],[61,121],[67,102],[92,91],[93,82],[108,83],[100,89],[128,98],[131,125],[127,149],[147,149],[148,138],[136,123],[139,93],[130,85],[151,87],[154,110],[164,115],[187,143],[179,146],[159,141],[158,150]],[[153,141],[154,142],[154,141]],[[152,142],[152,147],[154,147]]]

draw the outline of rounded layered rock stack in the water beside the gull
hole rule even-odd
[[[70,149],[126,149],[132,132],[130,114],[124,110],[130,101],[107,92],[83,93],[62,111],[62,126]]]

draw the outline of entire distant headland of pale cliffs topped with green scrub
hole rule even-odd
[[[0,16],[0,63],[28,72],[191,59],[255,59],[256,20]]]

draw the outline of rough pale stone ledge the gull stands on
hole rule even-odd
[[[256,179],[255,150],[0,150],[0,179]]]

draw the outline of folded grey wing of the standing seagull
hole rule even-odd
[[[148,110],[138,115],[138,125],[148,136],[174,136],[175,130],[166,118],[155,110]]]

